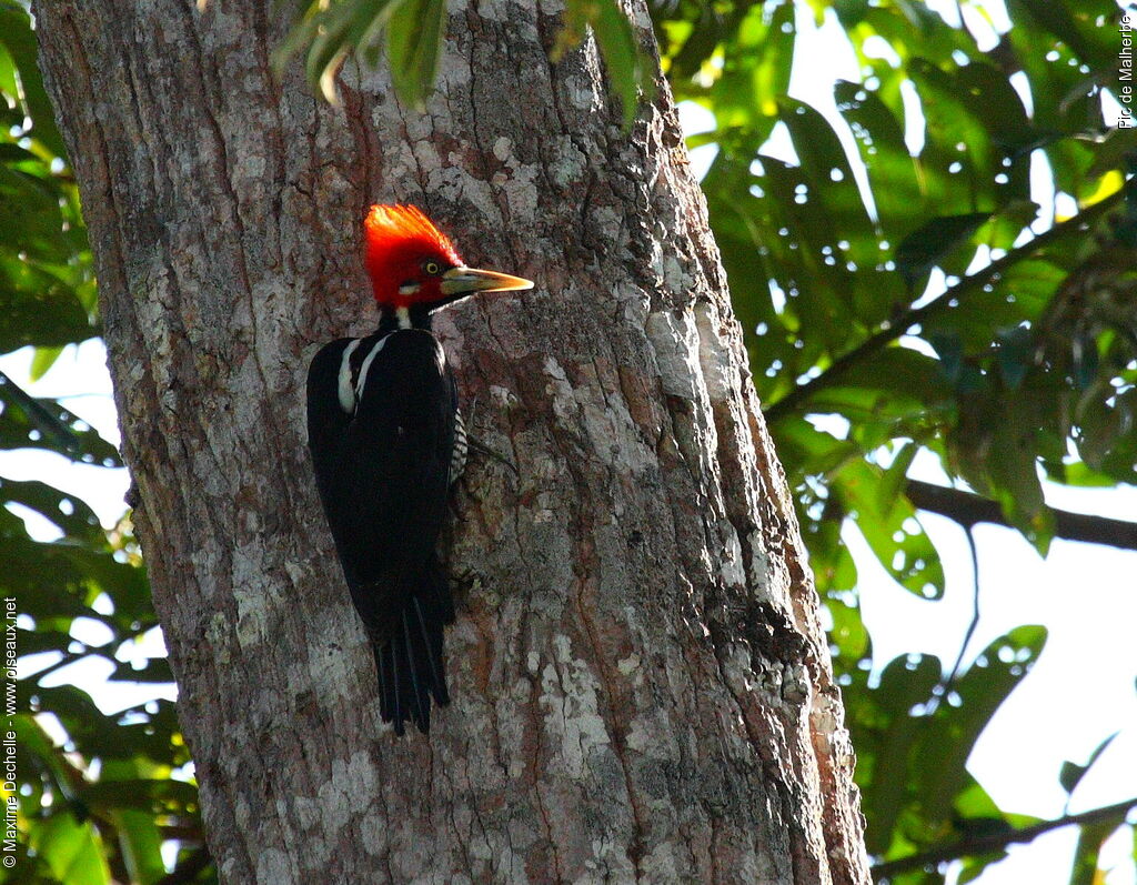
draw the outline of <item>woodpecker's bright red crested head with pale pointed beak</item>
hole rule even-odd
[[[372,206],[365,263],[380,307],[441,307],[475,291],[530,289],[518,276],[466,267],[450,239],[414,206]]]

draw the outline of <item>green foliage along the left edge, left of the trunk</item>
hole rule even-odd
[[[96,287],[78,193],[35,60],[23,8],[0,5],[0,353],[36,348],[43,374],[65,345],[99,334]],[[0,452],[39,448],[96,469],[122,468],[114,446],[53,399],[28,396],[0,374]],[[173,703],[103,713],[83,690],[52,685],[60,668],[98,656],[111,680],[171,683],[165,659],[127,662],[157,627],[138,545],[124,519],[110,530],[83,501],[45,482],[0,477],[0,596],[15,597],[22,670],[16,685],[19,854],[0,878],[76,885],[153,883],[163,843],[201,842],[197,788],[172,779],[189,762]],[[15,511],[14,511],[15,508]],[[18,514],[47,520],[36,540]],[[94,622],[109,638],[72,636]],[[31,668],[28,668],[31,669]]]

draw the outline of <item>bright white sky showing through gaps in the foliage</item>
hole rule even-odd
[[[931,0],[952,22],[954,0]],[[999,3],[993,20],[1005,22]],[[1002,18],[1001,18],[1002,15]],[[989,26],[969,20],[973,30]],[[799,58],[790,93],[831,121],[839,121],[831,84],[855,80],[857,66],[833,20],[820,30],[808,15],[799,16]],[[681,117],[688,133],[713,125],[705,110],[686,105]],[[840,125],[837,126],[840,131]],[[852,147],[852,142],[849,142]],[[705,171],[713,147],[692,151],[692,168]],[[765,151],[792,160],[788,139],[775,132]],[[856,151],[850,150],[850,157]],[[1036,195],[1040,200],[1046,193]],[[1053,199],[1053,193],[1048,195]],[[68,348],[44,379],[27,382],[31,351],[0,357],[0,371],[36,396],[57,396],[73,412],[111,443],[118,441],[117,420],[110,398],[110,379],[101,342]],[[11,479],[44,479],[88,502],[103,524],[111,526],[124,511],[127,478],[124,470],[73,464],[58,455],[22,450],[0,453],[0,474]],[[918,458],[912,475],[946,483],[933,458]],[[1048,503],[1082,513],[1137,519],[1137,489],[1068,489],[1046,487]],[[24,515],[24,514],[22,514]],[[857,563],[865,623],[874,656],[882,668],[898,654],[926,652],[954,661],[971,614],[972,577],[963,530],[949,520],[921,514],[921,522],[940,551],[947,576],[947,593],[939,602],[920,599],[896,585],[875,561],[857,530],[846,527],[844,538]],[[33,531],[44,527],[30,523]],[[982,617],[971,643],[972,655],[1007,629],[1023,623],[1045,625],[1046,648],[1032,672],[999,709],[969,760],[971,774],[1004,809],[1053,818],[1137,796],[1137,552],[1055,540],[1044,561],[1022,537],[1006,528],[980,526],[976,530],[979,552]],[[100,643],[99,626],[80,625],[76,638]],[[160,636],[152,635],[134,650],[138,656],[163,653]],[[24,670],[40,669],[25,661]],[[90,661],[53,675],[55,683],[73,683],[90,692],[105,711],[121,710],[153,696],[151,686],[110,686],[108,662]],[[172,693],[168,695],[172,696]],[[1073,794],[1069,808],[1059,784],[1063,761],[1085,762],[1098,742],[1118,733],[1097,764]],[[1131,818],[1132,819],[1132,816]],[[1011,849],[1010,858],[994,865],[978,879],[980,885],[1049,885],[1065,883],[1077,828],[1065,828]],[[1121,830],[1106,844],[1102,863],[1113,867],[1109,885],[1134,885],[1132,836]]]

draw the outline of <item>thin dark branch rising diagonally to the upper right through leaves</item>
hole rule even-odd
[[[908,308],[894,320],[886,321],[879,330],[869,336],[860,345],[837,357],[830,364],[829,369],[820,375],[806,381],[804,384],[798,384],[777,403],[772,403],[766,406],[763,410],[766,421],[778,421],[779,419],[782,419],[796,411],[797,407],[811,396],[816,394],[819,390],[823,390],[827,387],[836,384],[849,369],[857,365],[866,357],[875,354],[885,345],[903,336],[913,325],[922,323],[929,317],[947,309],[953,300],[962,301],[964,298],[982,291],[984,286],[993,279],[1010,270],[1019,262],[1026,260],[1043,247],[1048,246],[1054,240],[1061,239],[1072,230],[1078,230],[1087,224],[1096,222],[1102,215],[1107,213],[1121,201],[1124,192],[1126,190],[1122,189],[1117,193],[1106,197],[1101,202],[1095,202],[1089,208],[1082,209],[1072,218],[1055,224],[1048,231],[1044,231],[1035,237],[1035,239],[1030,242],[1026,242],[1019,248],[1012,249],[1002,258],[997,258],[982,270],[977,271],[970,276],[965,276],[955,286],[945,289],[944,293],[940,295],[939,298],[933,301],[929,301],[923,307]]]

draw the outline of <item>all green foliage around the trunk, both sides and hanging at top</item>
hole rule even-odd
[[[896,581],[937,599],[939,555],[906,494],[919,453],[998,502],[1041,552],[1054,521],[1040,475],[1137,480],[1137,137],[1107,132],[1102,118],[1102,90],[1119,85],[1118,10],[1110,0],[1006,6],[1013,27],[990,44],[984,28],[949,25],[916,0],[658,0],[653,9],[677,99],[715,118],[692,143],[717,149],[703,187],[828,603],[870,851],[896,861],[961,845],[961,880],[1002,857],[969,855],[969,839],[1039,824],[999,809],[965,762],[1045,632],[1012,630],[960,672],[926,655],[874,660],[840,529],[852,521]],[[798,7],[836,16],[861,67],[856,82],[835,85],[836,115],[787,97]],[[958,5],[973,25],[987,7]],[[615,0],[570,0],[555,51],[572,51],[590,26],[630,121],[650,66],[617,10]],[[385,53],[400,97],[421,105],[445,11],[441,0],[291,0],[285,13],[298,24],[276,64],[301,53],[309,82],[331,96],[350,52],[371,64]],[[97,305],[30,22],[3,0],[0,92],[0,353],[33,345],[42,373],[61,346],[98,334]],[[796,160],[772,149],[779,139]],[[1032,167],[1072,217],[1040,197]],[[3,378],[0,402],[0,448],[118,465],[59,403]],[[188,761],[172,705],[108,716],[48,678],[100,655],[116,679],[168,680],[164,660],[142,671],[123,663],[156,623],[128,521],[105,530],[47,483],[0,480],[0,495],[59,534],[35,540],[0,510],[0,557],[10,563],[0,581],[25,614],[20,653],[55,652],[19,684],[30,785],[19,827],[34,857],[10,880],[151,883],[172,842],[181,880],[197,880],[197,794],[172,777]],[[113,638],[77,643],[83,619]],[[1097,755],[1063,767],[1068,792]],[[1120,824],[1082,827],[1072,882],[1094,880],[1097,850]],[[893,880],[944,876],[916,863]]]

